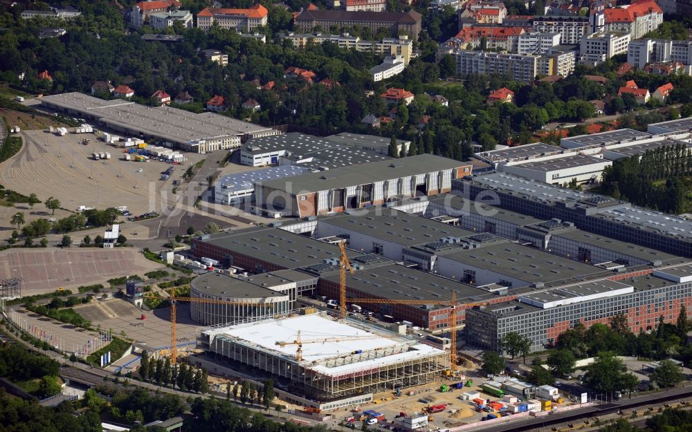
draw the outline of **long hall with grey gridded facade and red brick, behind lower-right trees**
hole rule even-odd
[[[531,350],[552,346],[576,323],[587,328],[624,314],[632,332],[652,330],[659,317],[675,323],[680,307],[692,308],[689,265],[628,275],[620,281],[601,279],[552,290],[518,294],[516,301],[466,311],[466,341],[482,349],[500,350],[508,332],[531,340]],[[647,274],[648,273],[648,274]],[[680,281],[680,275],[686,276]],[[611,278],[612,279],[612,278]],[[688,312],[689,313],[689,312]]]

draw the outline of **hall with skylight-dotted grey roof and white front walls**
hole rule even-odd
[[[240,150],[242,165],[302,165],[315,171],[387,159],[390,158],[386,153],[358,149],[331,141],[329,137],[320,138],[296,132],[257,138],[247,142]]]

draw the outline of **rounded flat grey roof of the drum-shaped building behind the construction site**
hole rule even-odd
[[[261,297],[283,297],[286,294],[251,283],[251,279],[240,279],[219,272],[200,274],[192,279],[194,290],[215,297],[226,296],[235,299],[259,299]]]

